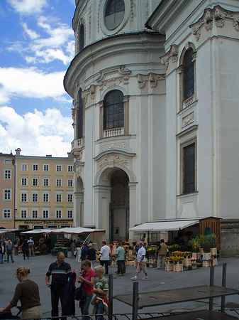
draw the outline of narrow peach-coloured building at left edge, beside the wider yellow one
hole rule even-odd
[[[15,161],[13,154],[0,153],[0,228],[14,228]]]

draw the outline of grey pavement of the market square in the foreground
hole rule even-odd
[[[4,262],[0,265],[0,294],[1,294],[1,307],[9,304],[13,297],[13,293],[18,283],[13,272],[17,267],[25,265],[31,270],[30,279],[33,279],[38,283],[40,289],[40,300],[43,305],[43,316],[50,316],[51,304],[50,304],[50,289],[45,285],[45,273],[51,262],[56,260],[56,257],[52,255],[42,255],[30,257],[29,260],[23,260],[23,255],[14,256],[14,263]],[[69,262],[72,269],[78,273],[80,271],[80,264],[75,262],[72,258],[66,258],[66,262]],[[226,287],[232,289],[238,289],[238,270],[239,270],[239,258],[221,258],[218,260],[218,266],[215,267],[215,281],[214,284],[221,286],[222,282],[222,265],[227,263],[227,280]],[[135,275],[135,267],[126,267],[126,275],[124,277],[118,277],[116,275],[116,266],[109,268],[109,273],[113,274],[113,295],[118,294],[130,294],[133,292],[133,281],[130,277]],[[148,281],[143,281],[141,278],[143,274],[140,274],[139,279],[139,292],[152,292],[158,290],[177,289],[185,287],[194,287],[199,285],[209,284],[210,270],[206,267],[201,267],[196,270],[189,270],[184,272],[165,272],[164,270],[155,270],[155,268],[148,268]],[[226,297],[226,303],[232,303],[234,307],[239,308],[238,296]],[[221,298],[214,299],[213,308],[220,309]],[[195,309],[208,309],[209,302],[185,302],[182,304],[169,304],[165,306],[155,306],[139,310],[139,312],[167,312],[167,311],[191,311]],[[17,313],[17,309],[12,309],[13,314]],[[90,307],[91,312],[91,307]],[[113,313],[123,314],[132,313],[132,307],[116,299],[113,299]],[[235,311],[228,312],[231,315],[236,316]],[[80,314],[79,307],[76,302],[76,314]]]

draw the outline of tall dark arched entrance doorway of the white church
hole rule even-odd
[[[111,202],[109,203],[109,240],[128,241],[130,203],[128,175],[121,169],[113,171],[111,181]]]

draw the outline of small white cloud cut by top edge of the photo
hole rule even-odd
[[[8,0],[8,2],[18,14],[23,15],[40,14],[48,5],[47,0]]]

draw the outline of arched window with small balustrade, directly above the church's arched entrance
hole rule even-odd
[[[123,93],[113,90],[104,97],[104,130],[123,127]]]

